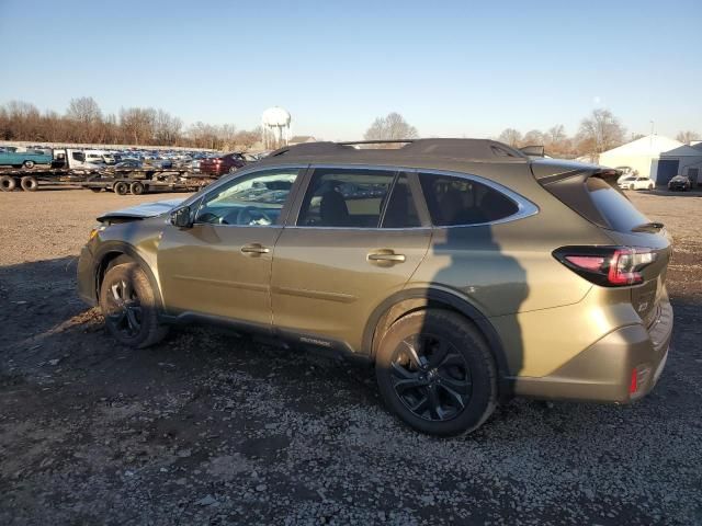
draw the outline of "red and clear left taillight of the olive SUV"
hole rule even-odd
[[[563,247],[553,255],[576,274],[604,287],[642,283],[641,271],[656,259],[650,249],[632,247]]]

